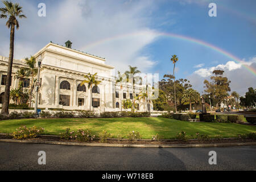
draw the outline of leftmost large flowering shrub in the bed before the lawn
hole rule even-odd
[[[44,132],[43,128],[37,128],[33,126],[31,128],[27,128],[27,126],[19,127],[13,133],[14,139],[27,139],[27,138],[35,138],[38,134],[42,134]]]

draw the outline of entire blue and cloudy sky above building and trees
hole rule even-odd
[[[14,1],[15,2],[15,1]],[[27,19],[15,35],[15,58],[33,55],[50,41],[106,57],[107,64],[125,71],[128,65],[146,73],[172,74],[171,55],[177,55],[176,77],[188,78],[201,92],[214,68],[224,69],[232,91],[244,94],[256,76],[219,52],[185,40],[159,36],[166,32],[199,39],[224,49],[256,69],[256,1],[210,1],[217,17],[209,17],[207,0],[18,1]],[[46,17],[37,15],[46,3]],[[2,3],[0,3],[2,6]],[[9,30],[0,20],[0,55],[9,55]],[[129,35],[129,36],[122,36]],[[119,36],[118,39],[105,40]],[[100,44],[93,44],[100,41]],[[93,46],[91,46],[93,45]]]

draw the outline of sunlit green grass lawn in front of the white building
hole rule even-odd
[[[46,134],[59,135],[65,129],[72,131],[90,129],[98,136],[102,130],[126,136],[130,131],[139,131],[142,138],[151,139],[159,134],[166,139],[175,138],[177,133],[185,131],[187,135],[200,134],[209,137],[237,137],[237,134],[256,132],[255,126],[236,123],[191,123],[167,118],[71,118],[71,119],[16,119],[0,121],[0,133],[12,133],[16,128],[38,126],[46,129]]]

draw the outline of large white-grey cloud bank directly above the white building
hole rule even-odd
[[[158,38],[148,28],[149,12],[156,8],[155,1],[57,1],[46,3],[44,18],[37,15],[34,3],[28,0],[19,3],[28,18],[20,20],[20,29],[15,34],[15,59],[34,55],[50,41],[64,45],[69,39],[72,48],[105,57],[106,64],[121,71],[128,65],[148,71],[157,63],[150,55],[141,53]],[[0,55],[8,56],[9,30],[3,23],[0,22],[0,30],[4,31]],[[95,42],[100,44],[88,46]]]

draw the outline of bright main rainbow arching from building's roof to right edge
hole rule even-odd
[[[232,55],[232,53],[229,53],[229,52],[225,51],[224,49],[213,46],[212,44],[209,44],[209,43],[204,42],[199,39],[195,39],[195,38],[191,38],[191,37],[179,35],[179,34],[167,33],[167,32],[140,31],[140,32],[133,32],[133,33],[129,33],[129,34],[121,34],[121,35],[113,36],[110,38],[98,40],[97,42],[90,43],[87,46],[83,47],[83,49],[89,49],[92,47],[96,47],[100,44],[112,42],[114,40],[121,40],[121,39],[131,38],[131,37],[139,37],[141,35],[145,35],[145,33],[151,34],[152,36],[155,36],[155,37],[167,37],[167,38],[180,39],[180,40],[184,40],[186,42],[191,42],[191,43],[195,43],[195,44],[199,44],[201,46],[207,47],[209,49],[212,49],[213,51],[220,53],[221,55],[229,57],[229,59],[236,61],[236,63],[241,64],[242,67],[246,68],[249,72],[251,72],[254,76],[256,76],[256,70],[254,68],[251,68],[249,65],[244,64],[244,61],[240,60],[238,57]]]

